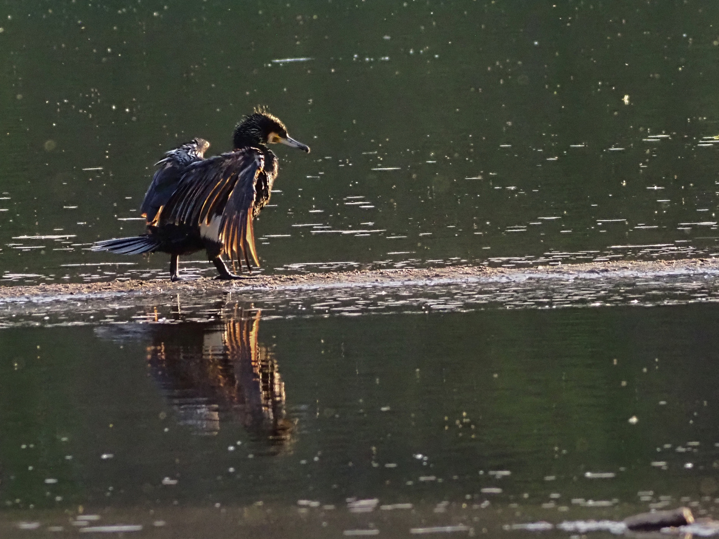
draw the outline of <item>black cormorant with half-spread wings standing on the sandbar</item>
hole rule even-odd
[[[232,152],[204,158],[210,144],[196,138],[171,149],[157,162],[142,202],[147,231],[142,236],[96,242],[93,251],[170,254],[170,280],[180,280],[180,254],[201,249],[219,272],[218,279],[242,279],[229,272],[222,256],[252,273],[260,265],[252,219],[270,201],[278,158],[267,144],[279,142],[309,152],[287,134],[285,124],[265,109],[255,109],[237,124]]]

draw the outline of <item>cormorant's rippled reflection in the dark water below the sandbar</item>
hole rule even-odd
[[[270,445],[286,446],[294,423],[286,417],[285,384],[275,354],[257,341],[259,328],[260,311],[248,317],[238,310],[221,326],[123,324],[100,326],[96,333],[124,341],[140,340],[150,331],[147,361],[180,424],[213,435],[229,415]]]

